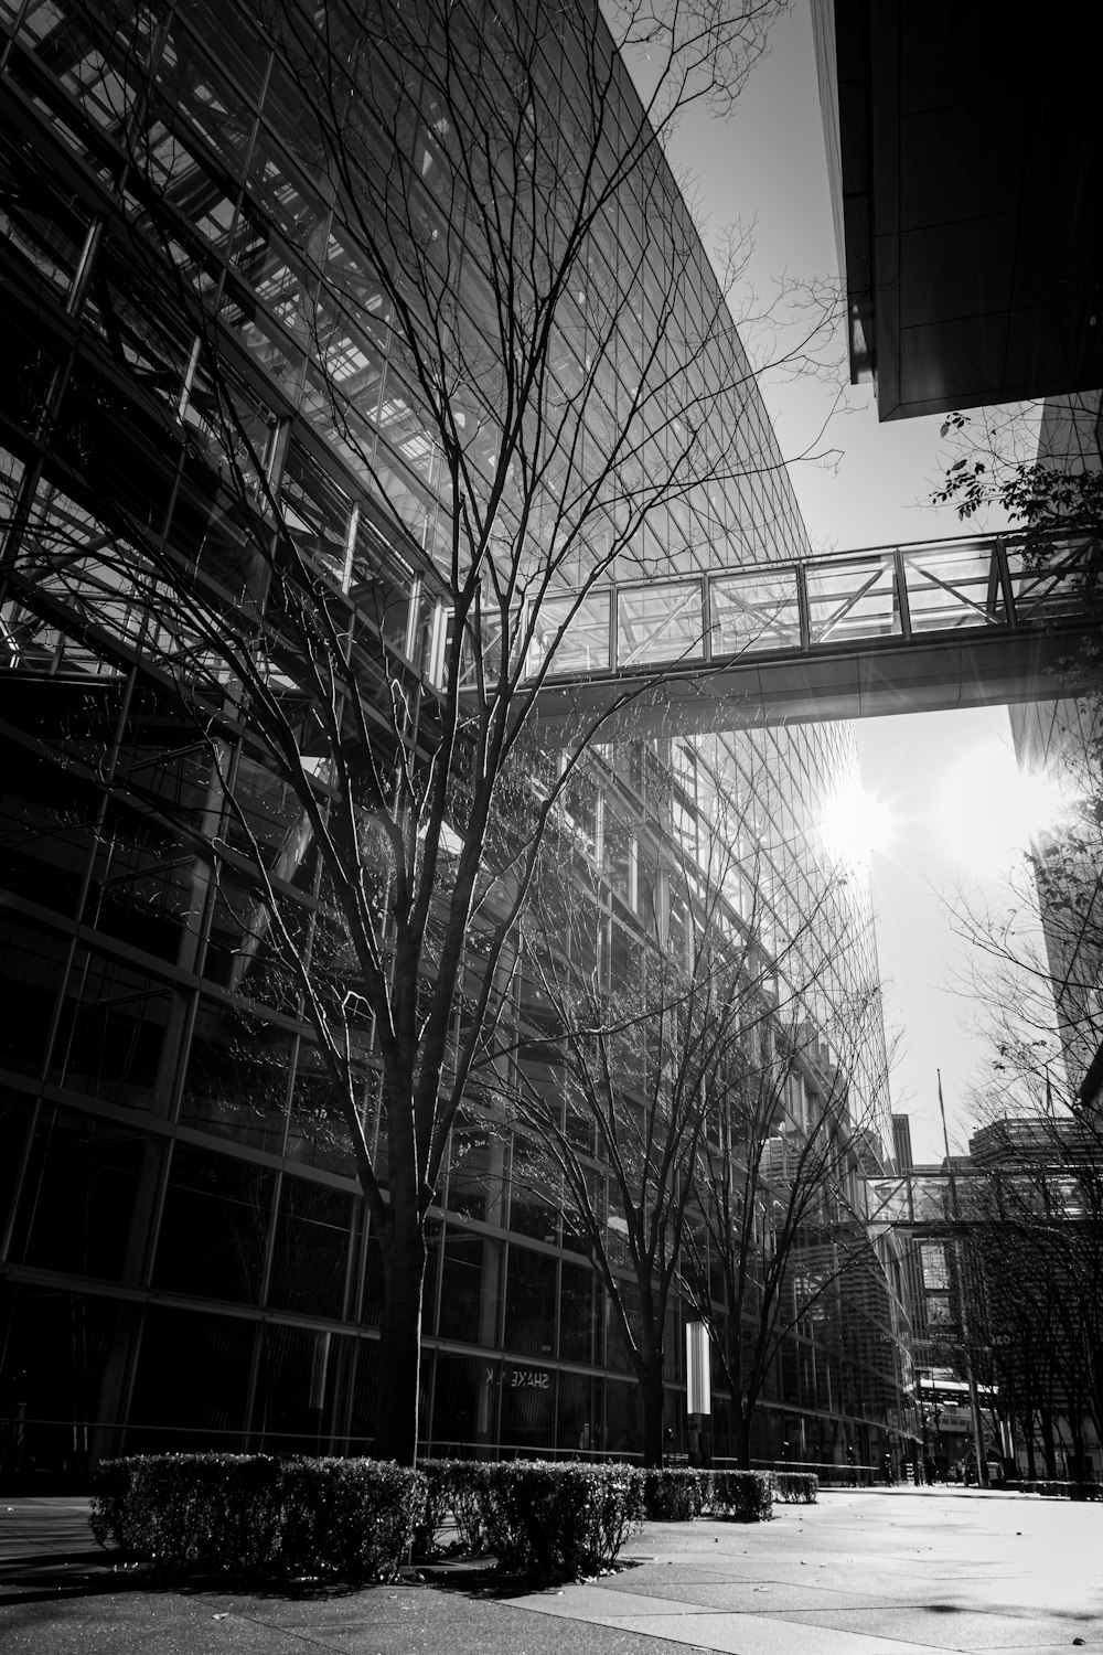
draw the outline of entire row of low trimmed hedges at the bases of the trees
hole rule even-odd
[[[509,1572],[575,1577],[609,1567],[643,1516],[767,1521],[776,1483],[782,1499],[815,1498],[800,1473],[142,1455],[101,1465],[91,1528],[101,1546],[160,1566],[389,1581],[433,1551],[451,1514],[465,1551]]]

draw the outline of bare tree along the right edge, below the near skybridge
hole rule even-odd
[[[1083,1463],[1083,1418],[1100,1408],[1098,1274],[1103,1122],[1093,1074],[1103,1043],[1100,756],[1095,697],[1048,720],[1063,819],[1040,832],[997,899],[959,897],[954,925],[974,958],[977,1023],[991,1071],[972,1091],[971,1311],[1030,1460],[1035,1425],[1048,1475],[1065,1422]]]

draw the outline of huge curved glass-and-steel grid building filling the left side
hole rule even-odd
[[[346,763],[326,736],[344,728],[341,685],[356,677],[377,770],[420,784],[476,543],[498,573],[503,541],[519,548],[506,624],[541,581],[551,612],[597,574],[635,592],[620,624],[648,647],[673,619],[663,576],[800,556],[805,535],[595,8],[471,0],[438,28],[432,7],[352,0],[0,10],[2,1456],[359,1451],[375,1428],[380,1245],[296,967],[313,962],[344,1018],[385,1180],[382,1036],[319,862]],[[590,190],[605,205],[556,286]],[[508,386],[537,305],[549,333],[526,449]],[[499,463],[506,439],[516,463]],[[488,636],[460,662],[475,679]],[[860,880],[832,880],[817,829],[852,770],[842,727],[597,745],[556,832],[564,879],[589,882],[600,914],[587,970],[643,971],[680,923],[676,857],[704,856],[716,798],[734,801],[734,849],[757,872],[754,900],[738,879],[724,892],[724,925],[752,923],[794,990],[774,986],[800,1046],[779,1144],[782,1115],[842,1087],[862,1130],[840,1200],[862,1231],[863,1173],[891,1154],[883,1051],[873,1019],[840,1076],[838,1016],[868,1011],[873,940]],[[521,821],[537,783],[511,794]],[[356,786],[367,856],[390,828],[370,839]],[[442,864],[460,851],[445,841]],[[364,889],[390,912],[382,875]],[[392,960],[384,948],[384,975]],[[524,973],[493,986],[539,1067]],[[544,1067],[554,1086],[554,1053]],[[465,1099],[427,1190],[422,1442],[638,1451],[609,1294],[528,1157],[521,1130]],[[855,1289],[794,1316],[759,1451],[787,1440],[842,1458],[850,1443],[880,1461],[906,1430],[888,1246],[870,1240]],[[678,1302],[666,1329],[675,1440],[685,1317]]]

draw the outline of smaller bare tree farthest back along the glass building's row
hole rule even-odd
[[[713,1336],[744,1466],[787,1341],[847,1354],[847,1339],[860,1344],[876,1309],[871,1296],[885,1296],[878,1246],[888,1243],[865,1203],[865,1177],[883,1155],[883,1076],[862,1074],[876,1049],[880,988],[814,1016],[822,978],[792,986],[782,973],[769,1015],[746,1019],[728,1053],[726,1086],[696,1154],[700,1226],[688,1231],[686,1279]]]

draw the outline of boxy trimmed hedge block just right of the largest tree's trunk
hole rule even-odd
[[[643,1518],[643,1473],[628,1465],[514,1460],[481,1473],[486,1546],[509,1572],[595,1574]]]

